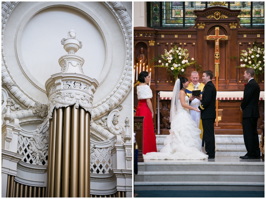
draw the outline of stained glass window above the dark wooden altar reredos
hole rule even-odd
[[[204,10],[212,6],[223,6],[241,10],[240,25],[264,27],[264,1],[160,1],[147,2],[150,9],[148,27],[185,28],[195,24],[194,10]]]

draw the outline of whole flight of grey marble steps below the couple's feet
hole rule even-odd
[[[207,160],[145,160],[134,175],[135,190],[263,191],[264,161],[239,157]]]

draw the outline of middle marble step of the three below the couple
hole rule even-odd
[[[264,182],[264,172],[210,172],[210,171],[145,171],[135,175],[135,181],[222,181],[222,182]]]

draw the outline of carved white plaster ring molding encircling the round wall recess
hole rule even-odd
[[[93,109],[91,114],[92,118],[98,118],[98,117],[103,117],[104,115],[108,115],[108,112],[111,111],[111,109],[108,108],[106,109],[106,104],[108,103],[109,99],[113,101],[116,107],[124,101],[127,95],[129,95],[129,93],[131,92],[132,88],[132,20],[120,2],[103,2],[103,3],[108,7],[108,9],[110,9],[110,11],[116,17],[123,32],[126,43],[126,63],[124,67],[124,72],[121,76],[121,80],[117,84],[116,88],[113,89],[113,91],[110,94],[106,95],[108,97],[106,97],[101,102],[98,102],[92,107]],[[14,9],[14,6],[16,4],[17,2],[10,4],[9,14],[12,11],[12,9]],[[5,23],[7,22],[8,17],[9,15],[7,14],[7,17],[5,17]],[[3,23],[2,23],[2,34],[4,34]],[[29,105],[33,106],[33,104],[38,101],[33,97],[29,96],[17,84],[17,82],[14,81],[14,78],[12,77],[12,74],[8,69],[7,63],[4,58],[3,42],[2,42],[2,57],[4,61],[4,65],[2,65],[2,77],[3,77],[3,67],[4,70],[7,71],[7,73],[4,74],[5,78],[2,80],[3,84],[7,86],[9,90],[12,90],[11,91],[12,94],[16,92],[16,94],[14,95],[15,97],[18,98],[21,96],[19,101],[22,102],[22,104],[24,104],[26,107],[28,107]],[[82,68],[81,64],[80,67]],[[80,70],[82,71],[81,68]]]

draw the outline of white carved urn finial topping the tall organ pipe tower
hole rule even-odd
[[[75,54],[82,48],[82,42],[76,39],[76,32],[73,29],[68,31],[67,39],[63,38],[61,44],[68,54]]]

